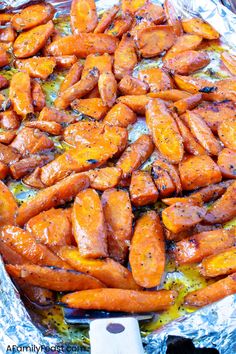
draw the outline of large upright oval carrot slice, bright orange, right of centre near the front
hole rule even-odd
[[[137,284],[145,288],[160,284],[165,268],[165,243],[160,219],[154,211],[143,214],[136,222],[129,262]]]

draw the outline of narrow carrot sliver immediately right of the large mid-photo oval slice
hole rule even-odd
[[[206,150],[197,142],[189,128],[184,124],[182,119],[175,117],[175,121],[183,138],[185,150],[192,155],[206,155]]]

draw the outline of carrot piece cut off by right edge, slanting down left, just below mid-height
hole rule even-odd
[[[206,213],[204,220],[208,224],[219,223],[229,221],[236,216],[236,181],[234,181],[215,203],[211,205],[211,208]]]

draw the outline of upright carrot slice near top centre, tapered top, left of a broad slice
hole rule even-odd
[[[131,35],[124,34],[114,54],[114,74],[121,80],[125,75],[131,75],[138,62],[135,42]]]

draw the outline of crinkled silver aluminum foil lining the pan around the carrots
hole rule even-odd
[[[49,1],[50,2],[50,1]],[[70,0],[52,0],[59,9],[68,9]],[[106,9],[118,1],[99,0],[98,9]],[[162,0],[156,2],[162,3]],[[172,0],[182,17],[200,16],[215,27],[236,50],[236,15],[217,0]],[[2,0],[0,10],[16,9],[27,0]],[[220,354],[236,353],[236,295],[172,321],[144,339],[147,354],[165,354],[168,336],[193,340],[196,347],[216,348]],[[0,354],[66,353],[58,336],[46,336],[33,324],[18,291],[7,275],[0,259]],[[81,351],[77,351],[81,352]]]

